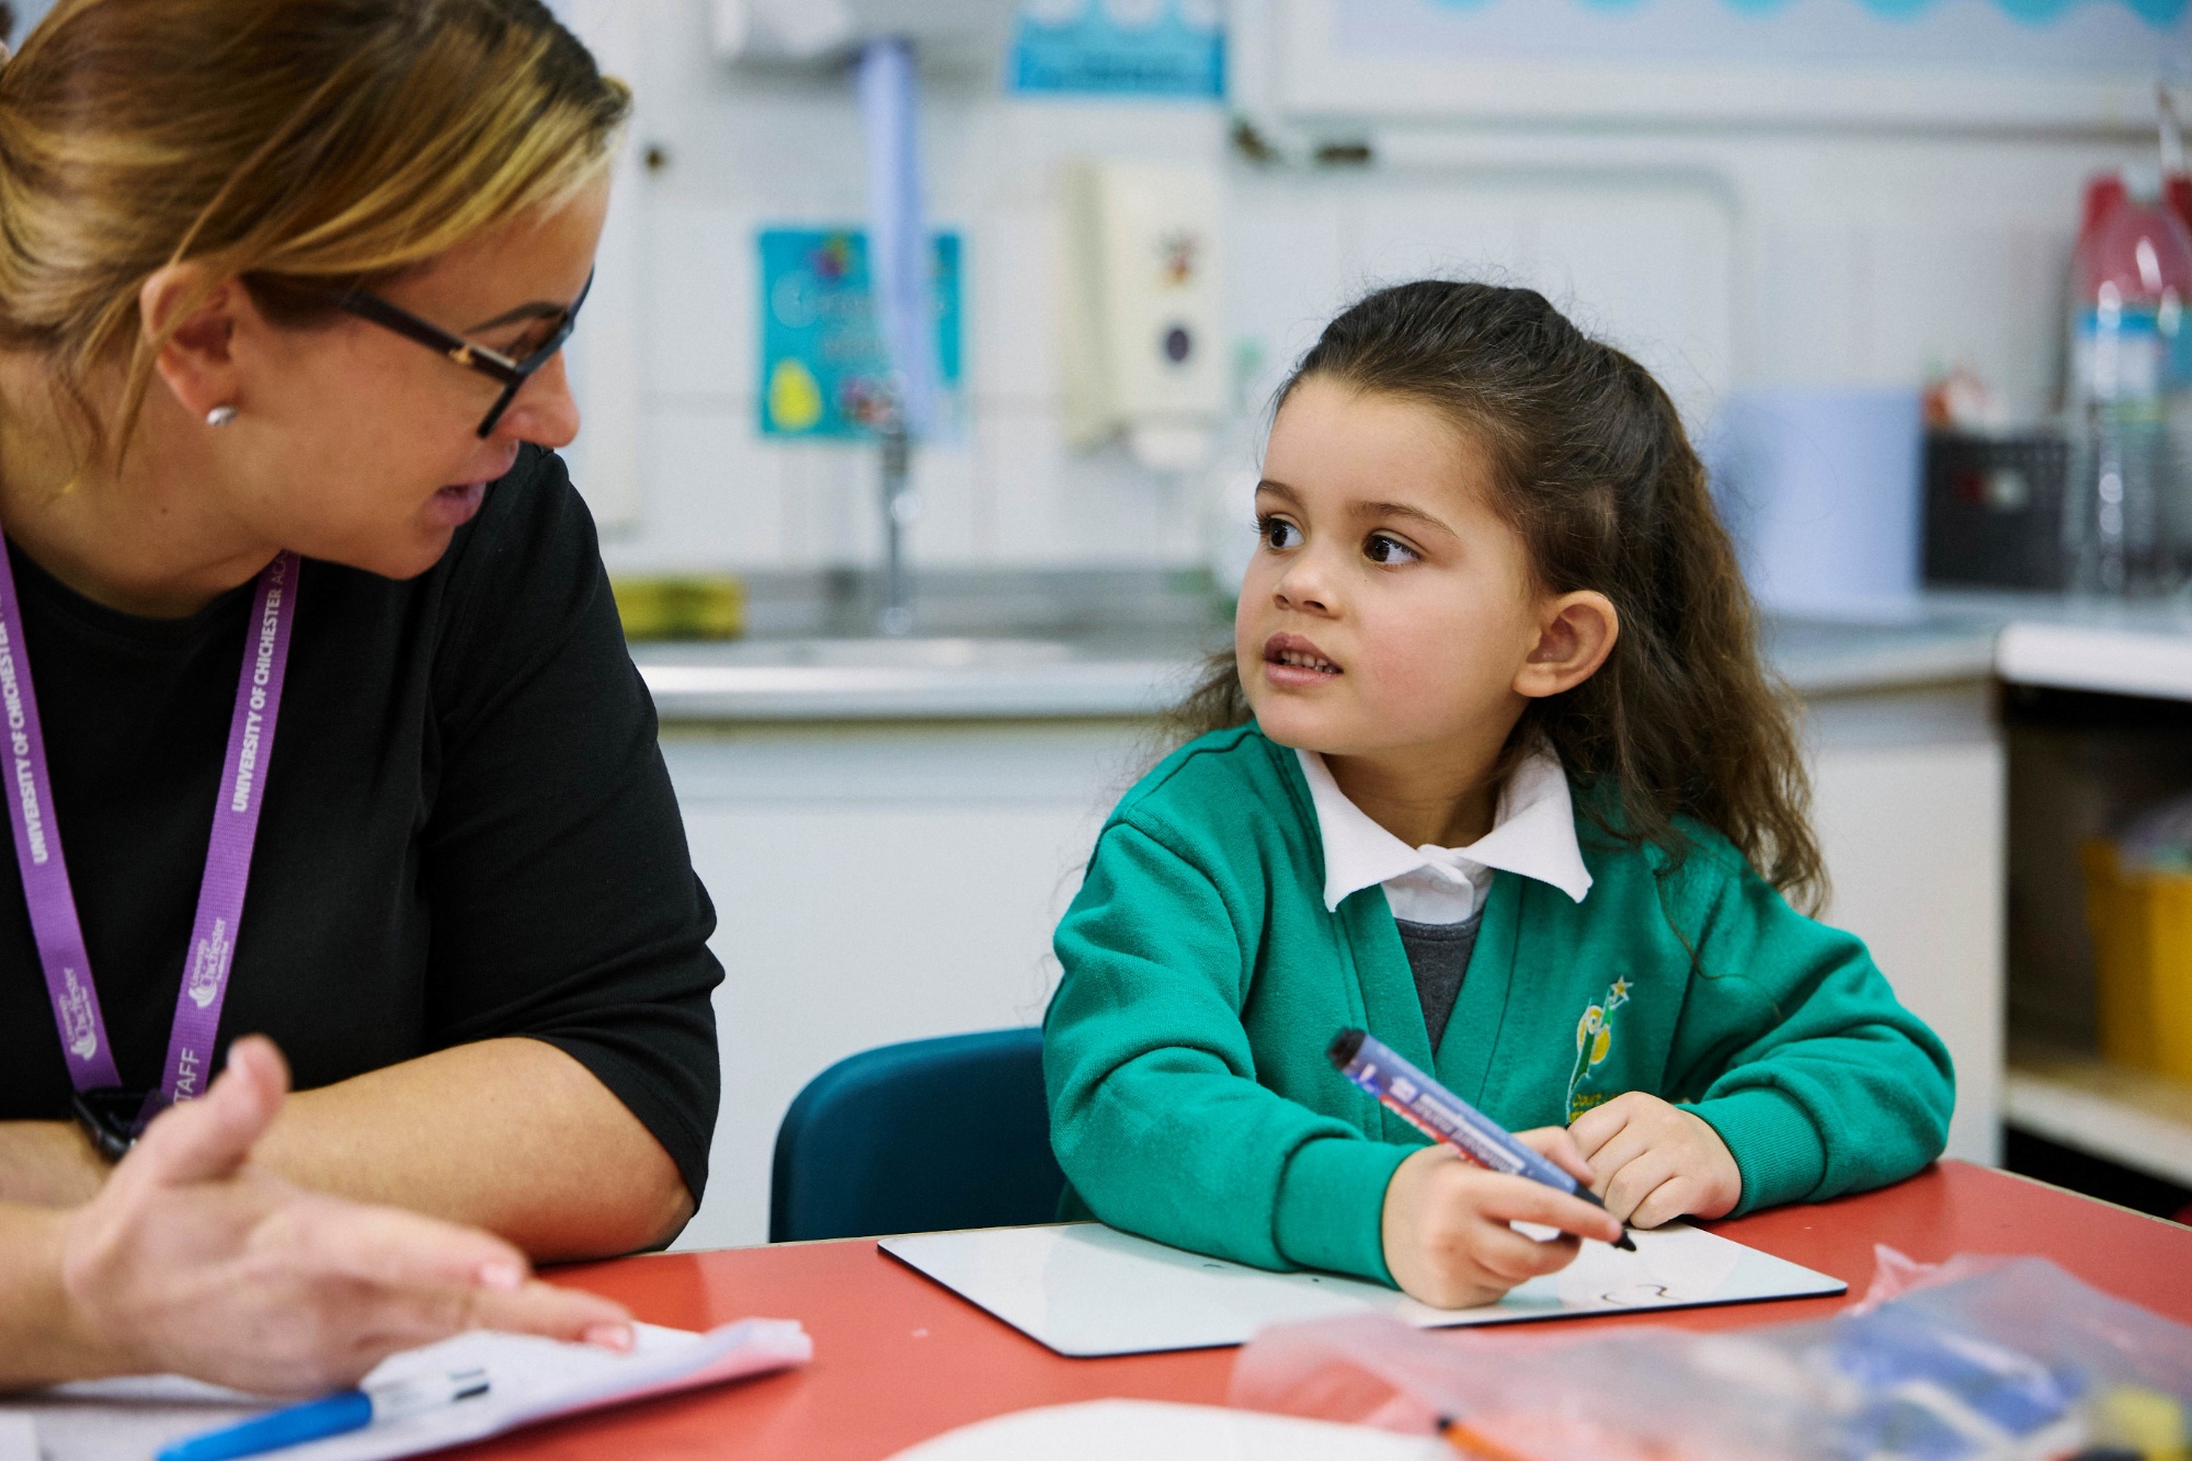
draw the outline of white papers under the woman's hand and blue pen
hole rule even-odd
[[[414,1457],[552,1415],[789,1369],[813,1356],[813,1340],[789,1318],[745,1318],[708,1334],[636,1325],[636,1334],[638,1343],[623,1356],[484,1329],[408,1349],[384,1360],[366,1375],[366,1384],[480,1367],[487,1369],[489,1393],[272,1454],[283,1461]],[[0,1424],[18,1415],[33,1419],[44,1461],[145,1461],[162,1446],[265,1408],[265,1400],[235,1391],[178,1375],[149,1375],[64,1384],[0,1402]]]

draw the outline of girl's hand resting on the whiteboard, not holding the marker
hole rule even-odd
[[[1725,1218],[1743,1200],[1743,1174],[1721,1134],[1655,1095],[1618,1095],[1567,1130],[1598,1171],[1591,1191],[1631,1226],[1657,1228],[1683,1213]]]

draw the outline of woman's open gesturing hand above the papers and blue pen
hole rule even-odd
[[[309,1193],[254,1167],[252,1143],[287,1088],[272,1042],[239,1040],[204,1099],[153,1121],[68,1215],[68,1349],[99,1356],[107,1373],[309,1395],[463,1329],[631,1345],[620,1305],[533,1279],[500,1237]]]

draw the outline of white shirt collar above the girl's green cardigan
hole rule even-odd
[[[1458,888],[1475,884],[1471,873],[1499,869],[1534,877],[1561,888],[1578,904],[1591,891],[1591,873],[1583,867],[1576,845],[1576,809],[1567,796],[1567,772],[1550,748],[1530,755],[1508,783],[1499,788],[1493,829],[1469,847],[1409,847],[1348,801],[1333,781],[1324,757],[1295,750],[1302,777],[1309,779],[1309,801],[1317,809],[1317,834],[1324,838],[1324,908],[1337,910],[1350,893],[1390,884],[1409,873],[1429,873]],[[1420,882],[1414,877],[1409,882]],[[1482,891],[1482,884],[1477,884]],[[1464,913],[1466,917],[1466,913]]]

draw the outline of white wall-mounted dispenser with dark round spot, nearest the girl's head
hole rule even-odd
[[[1072,162],[1063,239],[1065,439],[1124,434],[1146,467],[1201,465],[1225,408],[1217,171]]]

